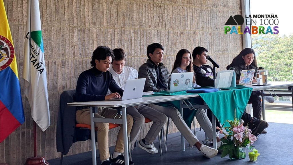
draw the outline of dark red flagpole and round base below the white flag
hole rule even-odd
[[[37,131],[36,122],[34,121],[34,157],[28,158],[24,165],[48,165],[44,156],[37,156]],[[0,164],[1,165],[1,164]]]

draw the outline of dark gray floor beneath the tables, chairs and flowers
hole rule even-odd
[[[253,144],[260,156],[258,157],[258,165],[267,164],[282,164],[293,165],[293,124],[269,123],[267,134],[261,134],[258,140]],[[203,131],[197,131],[198,139],[202,140],[205,137]],[[155,141],[155,146],[158,148],[158,141]],[[167,140],[168,152],[163,152],[163,156],[159,154],[148,154],[139,147],[132,152],[132,160],[136,165],[152,165],[152,164],[254,164],[249,161],[248,150],[246,149],[246,158],[238,161],[231,161],[229,156],[221,158],[218,154],[212,159],[208,159],[196,149],[188,147],[185,140],[186,150],[181,151],[181,138],[179,133],[169,134]],[[164,148],[163,144],[162,147]],[[110,147],[112,153],[114,147]],[[163,149],[164,151],[164,149]],[[50,165],[59,164],[59,159],[52,159],[48,162]],[[92,164],[91,152],[66,156],[63,159],[63,165],[90,165]],[[100,161],[98,158],[98,165]]]

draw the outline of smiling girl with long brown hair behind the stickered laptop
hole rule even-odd
[[[191,54],[187,49],[181,49],[176,55],[172,73],[186,73],[193,72]],[[193,87],[200,87],[195,82],[195,76],[193,75]]]

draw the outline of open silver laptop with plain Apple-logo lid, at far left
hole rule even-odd
[[[109,100],[130,100],[142,98],[142,92],[144,91],[145,78],[126,80],[123,96],[121,98],[113,98]]]

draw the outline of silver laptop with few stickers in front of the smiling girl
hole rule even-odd
[[[194,74],[193,72],[172,73],[171,74],[170,92],[189,90],[188,84],[192,83],[193,74]]]

